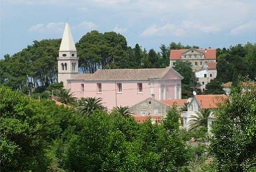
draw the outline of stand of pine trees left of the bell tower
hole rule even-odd
[[[59,44],[59,39],[34,41],[13,56],[5,55],[0,60],[0,84],[28,92],[56,82]]]

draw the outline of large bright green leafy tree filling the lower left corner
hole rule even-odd
[[[45,171],[49,145],[70,126],[73,112],[0,87],[0,152],[3,171]]]

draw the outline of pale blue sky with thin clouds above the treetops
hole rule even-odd
[[[0,0],[0,58],[43,39],[60,39],[66,22],[75,42],[115,31],[129,46],[159,50],[171,42],[222,48],[256,43],[255,0]]]

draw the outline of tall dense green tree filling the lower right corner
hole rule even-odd
[[[256,157],[256,88],[238,84],[217,113],[211,152],[219,171],[243,171]]]

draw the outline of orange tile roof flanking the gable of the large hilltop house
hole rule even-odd
[[[186,52],[187,50],[190,49],[183,49],[183,50],[171,50],[170,52],[170,60],[179,60],[181,59],[181,54],[183,52]],[[200,52],[203,52],[205,54],[205,59],[216,59],[216,49],[195,49]]]

